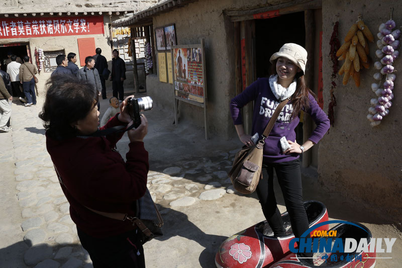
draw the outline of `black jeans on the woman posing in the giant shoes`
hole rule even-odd
[[[293,233],[295,237],[300,237],[309,228],[309,220],[306,209],[303,206],[300,160],[296,159],[281,163],[264,162],[263,165],[266,165],[268,178],[260,180],[256,192],[269,226],[271,226],[275,236],[285,234],[273,190],[273,169],[275,169],[285,206],[290,216]]]

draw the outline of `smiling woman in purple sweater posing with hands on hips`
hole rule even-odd
[[[265,139],[263,165],[267,168],[268,179],[260,180],[256,192],[274,236],[283,236],[285,229],[273,190],[273,169],[275,169],[293,233],[295,237],[300,237],[309,228],[309,222],[303,206],[299,155],[323,138],[330,123],[327,115],[317,104],[314,93],[306,85],[304,74],[307,51],[296,44],[284,44],[279,52],[271,56],[270,62],[271,76],[257,79],[236,96],[230,104],[231,113],[240,140],[244,144],[253,145],[251,136],[244,132],[240,109],[247,103],[255,101],[252,133],[258,133],[260,139],[276,107],[281,101],[290,99],[279,117],[274,119],[276,120],[274,127]],[[310,114],[317,127],[309,139],[300,145],[296,143],[294,129],[300,121],[301,111]],[[285,150],[282,150],[279,142],[283,136],[290,145],[290,148]]]

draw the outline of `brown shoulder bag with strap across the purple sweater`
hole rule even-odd
[[[287,104],[289,99],[282,101],[275,109],[268,125],[265,127],[262,138],[253,146],[244,145],[236,154],[233,160],[232,169],[228,175],[236,191],[242,194],[251,194],[257,188],[257,185],[262,178],[262,156],[264,149],[264,140],[271,132],[280,111]]]

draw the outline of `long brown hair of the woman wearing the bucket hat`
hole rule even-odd
[[[275,75],[276,73],[276,61],[272,62],[271,67],[269,68],[269,76]],[[305,111],[309,109],[310,101],[309,101],[309,93],[313,95],[313,97],[317,100],[314,92],[310,90],[310,88],[306,84],[305,75],[303,72],[297,72],[294,76],[296,78],[296,91],[293,93],[290,98],[290,102],[293,106],[293,112],[291,118],[296,117],[300,112],[304,109]]]

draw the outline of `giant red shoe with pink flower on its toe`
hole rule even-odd
[[[309,226],[328,221],[327,208],[318,201],[304,203]],[[215,264],[218,268],[236,267],[265,267],[281,259],[289,252],[289,242],[294,235],[290,227],[290,218],[287,212],[281,214],[286,235],[274,237],[267,221],[262,221],[246,230],[232,235],[226,239],[215,256]],[[316,230],[328,230],[328,225],[323,225]]]

